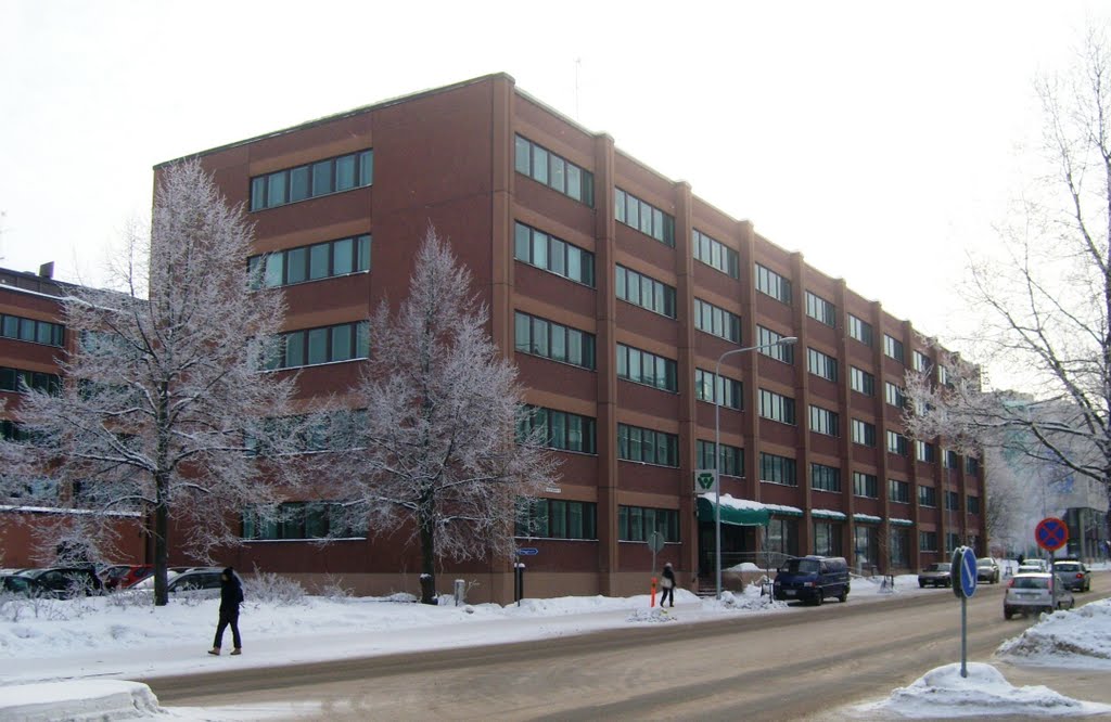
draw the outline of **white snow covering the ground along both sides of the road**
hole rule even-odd
[[[1009,562],[1008,562],[1009,563]],[[1104,565],[1100,565],[1102,569]],[[1101,578],[1105,572],[1101,572]],[[878,579],[878,578],[877,578]],[[628,599],[564,596],[527,599],[520,606],[428,606],[381,599],[306,598],[303,604],[278,605],[251,598],[240,618],[243,655],[204,653],[217,619],[219,601],[172,599],[154,609],[144,602],[123,603],[126,595],[76,601],[39,602],[17,614],[11,602],[0,603],[0,719],[30,716],[28,705],[42,705],[42,719],[122,716],[148,712],[141,719],[260,720],[303,714],[319,716],[318,701],[297,705],[263,703],[250,706],[157,711],[157,700],[144,685],[117,680],[214,672],[242,666],[273,666],[419,650],[539,640],[644,623],[695,623],[751,614],[807,614],[807,606],[769,603],[758,586],[731,595],[723,605],[701,601],[675,590],[670,614],[650,608],[647,595]],[[897,578],[894,592],[882,592],[870,580],[855,579],[849,603],[884,603],[904,595],[942,594],[948,589],[922,590],[914,575]],[[218,595],[218,593],[217,593]],[[953,602],[957,614],[955,601]],[[1078,604],[1084,604],[1081,595]],[[2,600],[0,600],[2,602]],[[311,624],[304,620],[311,619]],[[955,619],[955,618],[954,618]],[[1024,626],[1024,625],[1023,625]],[[1015,632],[1021,629],[1015,622]],[[357,632],[352,632],[357,630]],[[1111,600],[1058,612],[1009,640],[995,652],[1012,664],[1111,670],[1107,640],[1111,634]],[[1071,700],[1047,686],[1012,686],[993,666],[970,662],[961,678],[959,643],[953,639],[953,664],[925,671],[913,684],[875,690],[875,700],[857,708],[869,719],[894,716],[1022,715],[1037,710],[1044,716],[1111,713],[1111,705]],[[224,649],[231,646],[230,632]],[[137,689],[138,688],[138,689]],[[99,715],[91,714],[98,711]],[[317,714],[313,714],[317,713]],[[852,719],[852,710],[834,716]],[[39,719],[39,718],[36,718]],[[129,718],[131,719],[131,718]]]

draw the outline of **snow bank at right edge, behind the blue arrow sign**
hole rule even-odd
[[[1017,664],[1111,669],[1111,599],[1043,613],[1041,622],[1004,642],[997,654]]]

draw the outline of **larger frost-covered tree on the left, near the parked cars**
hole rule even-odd
[[[26,499],[37,479],[37,503],[82,510],[62,517],[74,522],[54,532],[59,553],[77,534],[86,550],[108,549],[112,514],[140,515],[153,538],[158,605],[171,548],[211,559],[239,542],[244,505],[267,508],[297,481],[294,464],[263,467],[253,453],[292,449],[291,424],[268,419],[290,413],[296,379],[259,372],[284,300],[252,290],[251,238],[242,209],[199,162],[166,168],[149,237],[127,234],[111,290],[69,289],[62,387],[24,389],[14,418],[26,440],[3,448],[3,495]],[[170,538],[171,521],[181,540]]]

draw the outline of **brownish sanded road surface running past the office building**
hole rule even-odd
[[[968,616],[969,661],[989,661],[1000,642],[1034,622],[1003,620],[1002,585],[981,585]],[[960,602],[941,590],[722,622],[144,681],[163,705],[293,703],[299,713],[288,719],[300,720],[829,720],[844,718],[844,704],[885,698],[959,661]],[[1111,703],[1105,673],[997,666],[1017,685]]]

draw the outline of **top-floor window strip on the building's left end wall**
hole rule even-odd
[[[311,177],[311,178],[310,178]],[[309,198],[340,193],[374,182],[374,151],[338,156],[251,179],[251,210],[261,211]]]

